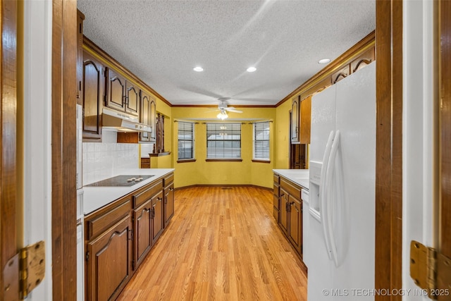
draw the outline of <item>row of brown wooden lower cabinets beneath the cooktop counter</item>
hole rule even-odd
[[[85,216],[85,300],[118,297],[173,216],[173,188],[170,173]]]

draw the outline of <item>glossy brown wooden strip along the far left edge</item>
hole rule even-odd
[[[17,25],[16,1],[0,0],[0,300],[5,300],[4,267],[18,250],[17,238]],[[13,288],[14,290],[15,288]],[[10,290],[11,291],[11,290]],[[18,297],[18,292],[16,297]]]

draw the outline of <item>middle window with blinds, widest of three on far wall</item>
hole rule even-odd
[[[206,123],[206,159],[241,159],[241,123]]]

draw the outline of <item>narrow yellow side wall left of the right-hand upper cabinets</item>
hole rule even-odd
[[[290,168],[288,151],[290,147],[290,109],[288,100],[276,108],[276,159],[275,169]]]

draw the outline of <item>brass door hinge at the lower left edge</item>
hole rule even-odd
[[[3,269],[5,300],[25,299],[42,282],[44,276],[44,241],[19,250]]]

